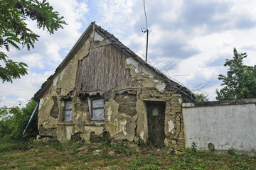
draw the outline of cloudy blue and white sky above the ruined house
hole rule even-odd
[[[256,64],[255,0],[49,0],[54,11],[68,23],[53,35],[27,21],[40,35],[35,48],[15,50],[11,60],[28,64],[28,74],[13,83],[0,83],[1,106],[25,106],[75,42],[93,21],[112,33],[144,59],[147,26],[149,64],[161,70],[195,94],[215,101],[221,89],[219,74],[226,74],[225,60],[233,58],[233,48],[247,52],[244,63]]]

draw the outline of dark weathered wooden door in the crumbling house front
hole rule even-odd
[[[148,145],[164,145],[164,117],[166,103],[163,101],[146,101],[148,118]]]

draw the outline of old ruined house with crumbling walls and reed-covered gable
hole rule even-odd
[[[41,137],[90,141],[107,133],[113,140],[180,146],[181,103],[194,101],[95,23],[34,98]]]

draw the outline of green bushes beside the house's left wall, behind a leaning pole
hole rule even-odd
[[[36,137],[36,135],[38,135],[37,113],[33,116],[31,125],[26,131],[25,135],[22,135],[34,108],[36,108],[36,101],[33,101],[33,98],[24,108],[20,108],[18,106],[11,108],[7,108],[6,106],[1,107],[0,140],[18,141],[28,140],[31,137]]]

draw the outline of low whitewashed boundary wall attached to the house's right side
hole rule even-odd
[[[183,103],[185,147],[256,152],[256,99]]]

